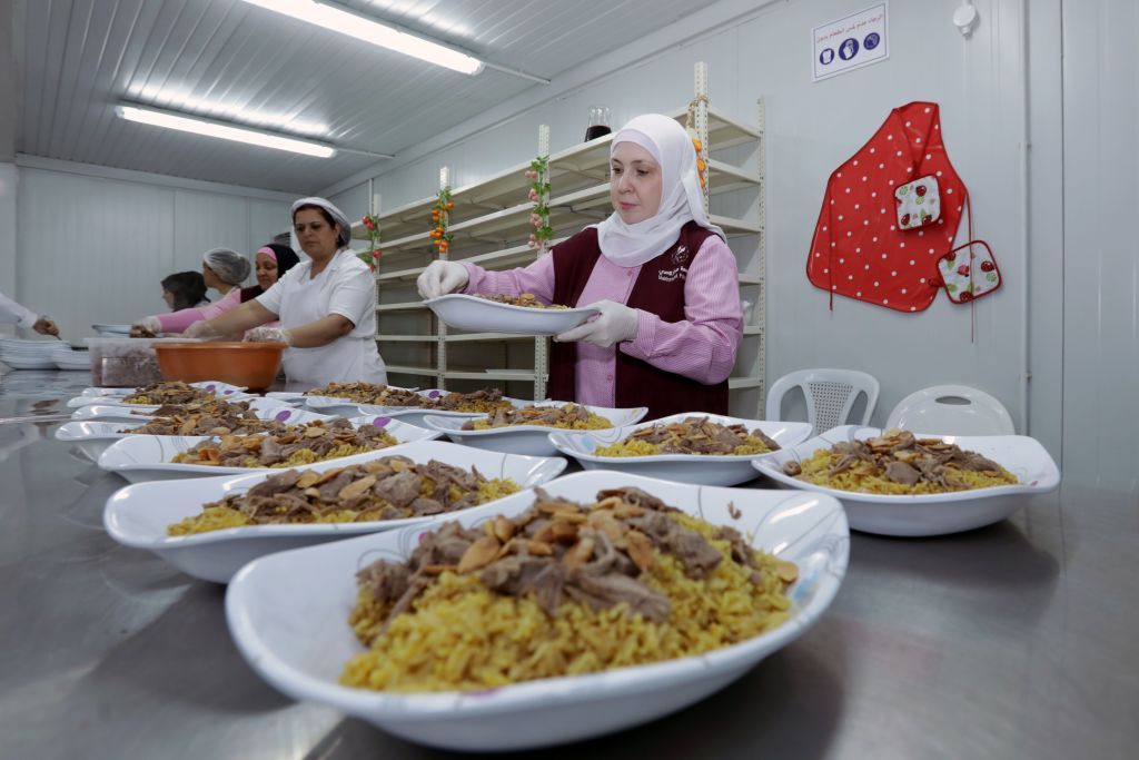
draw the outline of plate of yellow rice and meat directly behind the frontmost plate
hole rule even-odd
[[[124,546],[153,551],[195,578],[224,583],[245,563],[273,551],[363,533],[396,530],[413,524],[452,520],[458,514],[477,514],[477,510],[493,509],[500,496],[541,485],[557,477],[566,466],[560,457],[522,457],[478,451],[443,441],[419,441],[346,459],[305,465],[297,467],[296,471],[301,472],[302,477],[314,480],[312,488],[318,490],[325,482],[331,483],[339,497],[344,491],[343,487],[336,483],[336,473],[361,467],[370,472],[377,481],[370,484],[371,488],[377,492],[386,492],[384,479],[378,477],[371,466],[374,463],[393,457],[405,459],[413,465],[436,461],[444,465],[444,469],[459,468],[472,474],[477,473],[480,481],[475,497],[477,504],[454,505],[452,508],[459,509],[458,512],[407,517],[394,512],[388,514],[382,509],[376,510],[376,514],[361,512],[354,515],[347,514],[341,509],[343,505],[328,500],[327,508],[312,509],[318,516],[310,521],[301,522],[281,516],[278,521],[238,524],[247,521],[238,520],[243,515],[233,515],[228,508],[236,506],[232,504],[233,499],[251,496],[251,491],[257,495],[259,487],[264,491],[267,490],[264,484],[270,483],[270,479],[284,474],[281,471],[272,473],[260,471],[244,475],[128,485],[107,500],[103,515],[104,526],[114,540]],[[309,473],[327,475],[330,480],[321,481]],[[404,477],[405,473],[393,472],[392,475]],[[351,484],[360,481],[349,482]],[[305,481],[294,485],[305,487]],[[421,485],[431,484],[424,479]],[[388,484],[387,488],[395,485]],[[284,490],[268,489],[270,495]],[[423,495],[426,495],[426,491]],[[405,502],[405,498],[393,497],[393,506],[407,512],[405,507],[410,506],[410,502]],[[310,501],[316,502],[317,499]],[[310,509],[310,505],[302,505],[302,510],[305,509]]]

